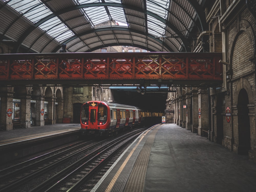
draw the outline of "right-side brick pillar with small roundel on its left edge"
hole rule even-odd
[[[204,131],[209,130],[209,102],[207,89],[198,89],[198,108],[201,116],[198,119],[198,135],[203,135]]]

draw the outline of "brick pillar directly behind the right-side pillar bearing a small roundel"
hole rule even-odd
[[[192,88],[191,90],[191,96],[192,96],[192,132],[197,133],[197,127],[198,127],[198,94],[197,89]]]

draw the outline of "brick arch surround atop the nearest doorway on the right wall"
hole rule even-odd
[[[237,84],[236,87],[236,94],[234,95],[234,99],[233,99],[233,105],[237,105],[237,101],[238,101],[238,95],[241,89],[245,89],[247,94],[248,94],[248,98],[249,98],[249,103],[252,104],[254,103],[254,97],[255,95],[252,92],[252,85],[250,84],[250,82],[248,81],[248,79],[246,78],[241,78],[240,82]]]

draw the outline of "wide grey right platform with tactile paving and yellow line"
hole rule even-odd
[[[140,135],[91,192],[255,191],[256,164],[175,124]]]

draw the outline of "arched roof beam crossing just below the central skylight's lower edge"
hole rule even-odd
[[[83,33],[80,33],[78,35],[75,35],[73,37],[70,37],[69,39],[66,39],[65,41],[62,42],[62,44],[67,44],[68,42],[76,39],[76,38],[79,38],[81,36],[84,36],[84,35],[88,35],[88,34],[91,34],[91,33],[97,33],[97,32],[100,32],[100,31],[113,31],[113,30],[120,30],[120,31],[128,31],[128,32],[132,32],[132,33],[135,33],[135,34],[140,34],[140,35],[145,35],[147,36],[148,38],[151,38],[155,41],[157,41],[158,43],[162,44],[162,46],[164,46],[167,50],[170,50],[170,52],[173,52],[173,49],[171,47],[169,47],[166,43],[164,43],[162,40],[160,39],[155,39],[155,37],[153,35],[150,35],[150,34],[145,34],[143,31],[138,31],[138,30],[134,30],[134,29],[129,29],[128,27],[125,27],[125,26],[115,26],[115,27],[99,27],[97,29],[93,29],[91,31],[85,31]],[[116,45],[116,44],[115,44]],[[174,45],[175,46],[175,45]],[[58,46],[56,49],[54,49],[52,52],[56,52],[58,51],[59,49],[61,48],[61,46]],[[97,49],[94,49],[94,50],[97,50]]]

